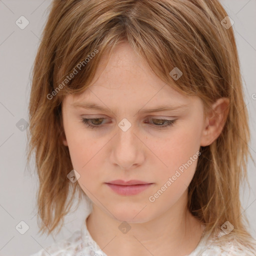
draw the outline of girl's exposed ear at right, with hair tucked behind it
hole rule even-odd
[[[218,98],[206,113],[201,146],[210,145],[221,133],[229,112],[229,99]]]

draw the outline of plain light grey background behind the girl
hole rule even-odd
[[[62,238],[67,238],[84,220],[85,203],[65,218],[61,232],[52,237],[39,236],[35,193],[37,177],[26,167],[26,130],[16,123],[27,120],[31,66],[40,41],[41,29],[47,17],[50,0],[0,0],[0,255],[30,255]],[[256,109],[256,0],[221,0],[234,20],[241,72],[245,87],[245,102],[249,110],[250,151],[255,159]],[[29,24],[20,29],[15,21],[21,16]],[[21,121],[22,122],[22,121]],[[31,169],[33,165],[31,164]],[[248,176],[252,189],[241,194],[242,206],[249,220],[250,232],[256,238],[256,177],[255,166],[248,161]],[[29,229],[20,234],[15,226],[25,221]]]

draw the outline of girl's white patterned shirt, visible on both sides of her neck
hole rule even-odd
[[[231,234],[231,233],[230,233]],[[229,234],[229,235],[230,235]],[[220,235],[221,236],[221,235]],[[221,239],[214,241],[203,235],[196,248],[186,256],[255,256],[255,250],[248,249],[237,242],[235,235],[231,235],[228,242]],[[88,232],[86,221],[80,229],[76,230],[68,239],[62,239],[45,249],[41,249],[31,256],[108,256],[92,239]],[[132,256],[132,255],[131,255]],[[157,255],[158,256],[158,255]]]

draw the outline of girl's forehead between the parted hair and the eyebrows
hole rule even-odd
[[[102,57],[87,89],[79,95],[66,96],[66,100],[69,104],[90,101],[106,107],[113,103],[119,107],[154,107],[159,103],[188,104],[192,97],[166,84],[128,43],[122,43],[110,55]]]

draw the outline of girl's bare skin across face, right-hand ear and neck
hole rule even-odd
[[[228,100],[218,99],[217,114],[203,115],[197,96],[184,96],[159,79],[127,43],[118,46],[105,66],[98,67],[91,86],[81,95],[67,95],[62,102],[64,136],[77,180],[93,203],[86,219],[88,231],[107,255],[185,255],[197,245],[202,228],[186,209],[187,186],[197,160],[153,202],[154,195],[200,145],[220,134],[227,115]],[[93,102],[108,111],[75,107]],[[139,113],[159,105],[186,108]],[[92,120],[90,128],[82,122]],[[118,123],[126,118],[131,126],[123,131]],[[176,119],[170,125],[157,119]],[[162,126],[165,127],[160,127]],[[197,156],[197,155],[196,155]],[[139,179],[153,184],[136,195],[116,194],[104,182]],[[120,231],[122,221],[130,226]]]

